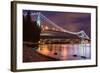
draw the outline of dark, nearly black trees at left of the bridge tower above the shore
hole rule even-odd
[[[40,40],[41,29],[36,21],[32,21],[31,11],[23,16],[23,41],[37,43]]]

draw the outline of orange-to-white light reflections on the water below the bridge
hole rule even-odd
[[[80,56],[91,58],[90,44],[43,44],[39,45],[38,52],[60,60],[78,60]],[[77,55],[74,57],[73,55]]]

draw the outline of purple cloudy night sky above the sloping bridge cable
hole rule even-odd
[[[23,15],[27,14],[28,10],[23,10]],[[40,12],[48,19],[60,27],[72,31],[79,32],[84,30],[85,33],[91,36],[91,14],[90,13],[76,13],[76,12],[53,12],[53,11],[34,11],[31,13]]]

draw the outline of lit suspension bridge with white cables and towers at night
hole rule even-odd
[[[36,13],[31,13],[31,16],[34,18],[33,20],[37,21],[37,24],[41,27],[41,35],[53,35],[53,33],[50,33],[51,31],[53,32],[62,32],[62,33],[69,33],[78,36],[81,39],[89,39],[88,35],[83,31],[79,32],[71,32],[68,31],[60,26],[58,26],[56,23],[52,22],[50,19],[48,19],[45,15],[43,15],[40,12]],[[46,32],[49,33],[46,33]]]

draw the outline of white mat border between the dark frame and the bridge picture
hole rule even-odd
[[[91,60],[75,60],[75,61],[52,61],[52,62],[34,62],[23,63],[22,61],[22,10],[43,10],[43,11],[62,11],[62,12],[82,12],[91,13]],[[63,6],[46,6],[46,5],[28,5],[17,4],[17,69],[35,69],[35,68],[51,68],[51,67],[68,67],[68,66],[85,66],[95,65],[96,61],[96,10],[94,8],[81,7],[63,7]]]

